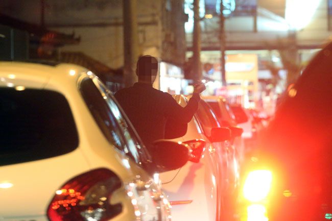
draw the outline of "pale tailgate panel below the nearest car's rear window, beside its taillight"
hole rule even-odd
[[[44,220],[55,191],[87,170],[89,167],[79,150],[49,159],[1,166],[0,220]]]

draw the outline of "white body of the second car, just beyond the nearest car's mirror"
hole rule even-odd
[[[174,97],[181,106],[186,105],[183,95]],[[225,177],[228,159],[221,150],[228,147],[222,142],[209,142],[196,114],[188,123],[186,134],[175,140],[185,142],[195,139],[206,141],[199,163],[188,161],[178,170],[161,173],[162,188],[172,205],[172,220],[220,220],[222,198],[228,184]]]

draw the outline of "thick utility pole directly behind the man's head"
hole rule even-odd
[[[132,86],[136,82],[136,61],[138,58],[137,0],[123,1],[124,30],[124,83]]]

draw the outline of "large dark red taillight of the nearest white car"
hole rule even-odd
[[[121,180],[108,169],[95,169],[66,182],[48,208],[51,221],[102,221],[121,213],[122,205],[110,205]]]

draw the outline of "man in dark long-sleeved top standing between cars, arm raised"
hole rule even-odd
[[[199,93],[205,90],[203,84],[195,86],[192,98],[183,108],[171,94],[152,87],[157,72],[158,61],[155,57],[140,57],[136,65],[138,82],[114,94],[148,148],[153,141],[165,138],[168,120],[187,124],[192,119],[200,101]]]

